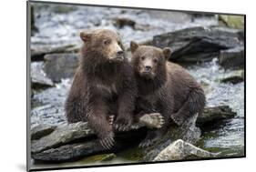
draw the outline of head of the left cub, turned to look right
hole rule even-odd
[[[91,32],[81,32],[84,42],[82,52],[85,56],[98,62],[122,62],[125,59],[124,47],[118,33],[108,29],[97,29]]]

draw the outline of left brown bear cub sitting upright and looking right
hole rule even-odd
[[[87,121],[100,144],[113,147],[115,124],[128,128],[133,119],[137,86],[121,39],[108,29],[82,32],[79,65],[66,101],[68,123]]]

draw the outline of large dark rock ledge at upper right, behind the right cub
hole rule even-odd
[[[153,37],[152,45],[170,47],[170,61],[181,64],[220,59],[225,68],[244,66],[244,37],[242,29],[224,27],[191,27]]]

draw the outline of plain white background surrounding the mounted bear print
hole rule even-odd
[[[123,5],[247,15],[247,157],[169,164],[97,167],[62,171],[255,171],[256,5],[253,0],[61,0],[97,5]],[[0,171],[26,170],[26,0],[3,0],[0,10]],[[254,70],[254,71],[253,71]],[[253,164],[254,163],[254,164]],[[253,166],[254,165],[254,166]]]

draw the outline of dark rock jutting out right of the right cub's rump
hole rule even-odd
[[[223,119],[233,118],[235,112],[229,106],[205,107],[201,116],[197,119],[197,126],[215,123]]]

